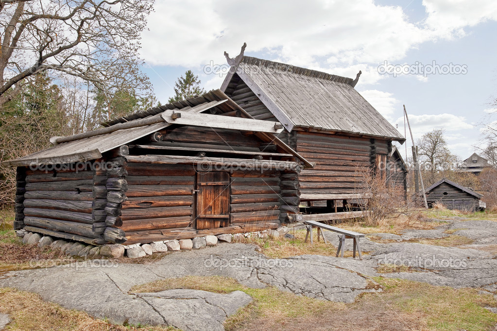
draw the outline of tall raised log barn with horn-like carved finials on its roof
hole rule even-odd
[[[360,72],[352,79],[247,57],[245,47],[234,59],[225,53],[231,70],[221,90],[254,119],[280,122],[286,131],[279,137],[315,163],[298,174],[302,201],[344,212],[347,200],[363,198],[358,167],[387,180],[392,141],[405,138],[354,89]]]

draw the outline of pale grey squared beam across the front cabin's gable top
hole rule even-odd
[[[241,117],[196,114],[173,110],[166,110],[161,114],[161,116],[164,121],[170,124],[268,133],[279,133],[283,131],[282,128],[276,129],[274,122],[246,119]]]

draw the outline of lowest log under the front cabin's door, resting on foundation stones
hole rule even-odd
[[[132,245],[136,243],[151,243],[153,241],[160,240],[173,240],[173,239],[192,239],[195,237],[203,237],[207,235],[219,235],[223,233],[245,233],[262,231],[267,229],[276,229],[280,226],[279,221],[273,222],[254,222],[247,224],[232,224],[224,228],[213,228],[196,230],[190,227],[182,229],[158,229],[158,230],[146,230],[146,231],[128,231],[126,232],[126,245]]]

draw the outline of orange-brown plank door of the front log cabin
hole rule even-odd
[[[197,174],[197,229],[230,225],[230,174],[211,171]]]

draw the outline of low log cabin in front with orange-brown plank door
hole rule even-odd
[[[90,244],[274,229],[311,164],[220,90],[54,137],[17,168],[15,229]]]

